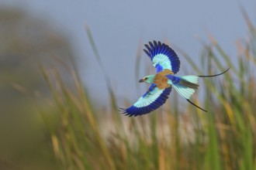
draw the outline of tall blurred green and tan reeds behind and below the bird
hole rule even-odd
[[[175,97],[153,114],[125,117],[117,110],[107,76],[112,111],[106,113],[93,107],[75,66],[66,68],[74,89],[65,86],[58,70],[41,66],[54,97],[57,124],[47,111],[41,115],[59,168],[256,169],[256,29],[244,16],[250,35],[237,41],[237,56],[228,56],[213,37],[202,44],[199,65],[179,51],[192,66],[191,73],[220,73],[230,67],[223,76],[201,81],[204,96],[192,98],[208,113],[181,103],[171,93]]]

